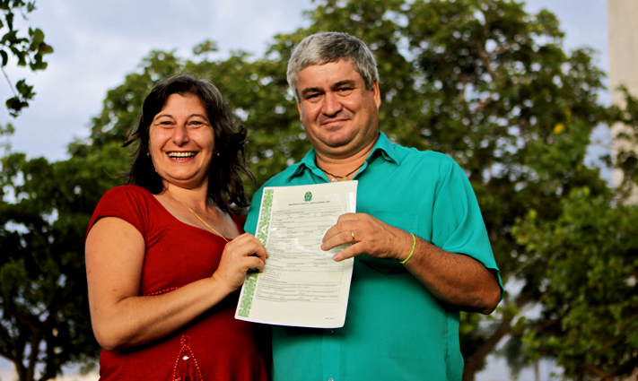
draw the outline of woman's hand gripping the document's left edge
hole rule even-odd
[[[212,278],[231,292],[235,291],[241,287],[249,270],[264,271],[267,257],[266,247],[252,234],[244,233],[226,244]]]

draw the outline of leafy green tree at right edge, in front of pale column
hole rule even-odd
[[[625,92],[622,138],[638,145],[638,101]],[[578,380],[623,379],[638,369],[638,205],[625,203],[638,185],[636,152],[615,152],[624,182],[611,195],[575,188],[554,221],[532,209],[512,229],[526,254],[546,263],[541,315],[517,335],[525,355],[551,353]]]

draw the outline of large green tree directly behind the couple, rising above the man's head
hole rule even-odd
[[[565,52],[552,13],[528,14],[504,0],[325,0],[307,16],[309,28],[275,36],[263,57],[214,59],[209,41],[195,49],[197,60],[153,52],[143,74],[109,92],[89,144],[121,141],[130,124],[119,121],[133,120],[146,84],[191,72],[212,79],[249,128],[249,160],[261,184],[309,148],[285,82],[294,45],[319,30],[363,39],[379,64],[380,129],[397,143],[447,153],[468,171],[503,280],[521,287],[494,316],[463,315],[466,379],[473,379],[487,355],[525,326],[523,311],[546,298],[546,262],[512,236],[517,217],[534,209],[540,221],[554,221],[561,200],[581,186],[609,194],[599,170],[584,165],[592,129],[610,120],[597,98],[603,74],[593,52]]]

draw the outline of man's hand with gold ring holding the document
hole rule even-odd
[[[413,240],[410,233],[389,226],[369,214],[346,213],[339,217],[335,226],[328,229],[321,249],[328,251],[345,244],[351,246],[333,256],[336,262],[362,254],[403,261],[412,250]]]

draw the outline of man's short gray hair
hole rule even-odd
[[[295,100],[299,101],[299,72],[310,65],[324,65],[341,59],[349,59],[353,63],[354,70],[363,77],[367,90],[371,89],[374,81],[379,80],[377,63],[362,40],[336,31],[321,32],[303,39],[294,48],[293,56],[288,61],[286,74]]]

